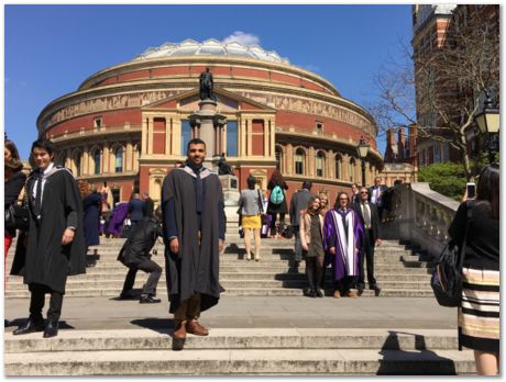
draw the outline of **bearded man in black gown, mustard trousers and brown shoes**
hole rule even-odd
[[[218,304],[219,254],[224,246],[223,192],[217,173],[205,168],[206,144],[188,143],[186,166],[173,169],[162,188],[163,228],[169,312],[174,338],[207,336],[200,312]]]

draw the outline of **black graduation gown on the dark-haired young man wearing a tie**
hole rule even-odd
[[[82,201],[68,169],[55,167],[45,179],[41,218],[37,221],[33,211],[36,175],[32,172],[29,177],[28,246],[25,251],[16,251],[11,274],[23,276],[29,286],[36,283],[64,294],[67,276],[86,273]],[[76,231],[74,240],[64,246],[62,237],[67,227]]]

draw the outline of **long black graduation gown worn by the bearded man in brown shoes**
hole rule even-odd
[[[197,214],[196,175],[188,167],[172,170],[162,187],[164,211],[164,241],[169,312],[174,313],[180,301],[201,294],[200,311],[216,305],[224,291],[219,283],[219,239],[224,238],[224,203],[221,182],[216,172],[204,169],[201,245]],[[169,247],[169,232],[176,232],[179,252]]]

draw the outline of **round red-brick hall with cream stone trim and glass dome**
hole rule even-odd
[[[275,52],[215,40],[166,43],[91,75],[41,112],[38,134],[55,142],[56,161],[78,178],[97,187],[108,181],[114,202],[134,189],[157,201],[163,178],[186,158],[188,116],[198,110],[198,78],[206,67],[215,78],[218,112],[227,117],[217,138],[240,188],[252,173],[265,189],[278,167],[289,194],[310,179],[314,191],[336,198],[361,182],[362,136],[372,146],[367,184],[382,169],[377,127],[361,105]]]

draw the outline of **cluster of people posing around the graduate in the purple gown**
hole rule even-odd
[[[305,181],[290,201],[290,223],[296,234],[295,262],[298,266],[302,259],[306,261],[306,294],[311,297],[324,295],[326,267],[331,265],[333,296],[356,299],[365,288],[365,263],[369,288],[378,296],[381,288],[374,277],[374,249],[381,245],[381,215],[370,199],[370,189],[358,189],[358,198],[339,192],[330,209],[328,195],[311,193],[311,186],[310,181]],[[358,293],[352,291],[353,286]]]

